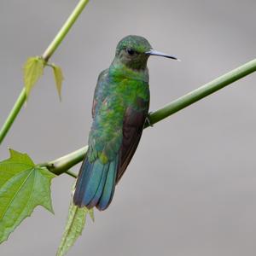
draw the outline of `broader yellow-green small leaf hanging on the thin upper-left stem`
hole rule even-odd
[[[44,73],[45,61],[42,57],[30,57],[24,65],[24,84],[26,88],[26,97],[29,96],[32,87],[38,82],[38,79]]]

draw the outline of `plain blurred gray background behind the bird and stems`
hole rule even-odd
[[[78,1],[1,0],[0,124],[22,88],[21,67],[40,55]],[[182,62],[152,57],[151,111],[255,57],[255,0],[90,1],[51,61],[65,83],[58,101],[51,70],[32,91],[7,147],[36,162],[87,143],[97,75],[128,34]],[[256,253],[256,74],[147,129],[111,206],[96,212],[68,255],[238,256]],[[78,171],[79,166],[73,168]],[[1,256],[55,255],[73,178],[55,178],[55,216],[38,207]]]

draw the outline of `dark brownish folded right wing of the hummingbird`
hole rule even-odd
[[[125,169],[129,165],[133,154],[137,149],[137,145],[143,134],[143,126],[148,115],[148,102],[138,99],[141,108],[127,108],[123,122],[123,140],[120,148],[120,163],[117,174],[116,183],[125,173]]]

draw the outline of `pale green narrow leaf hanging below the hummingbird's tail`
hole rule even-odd
[[[61,244],[56,254],[57,256],[65,255],[82,234],[88,213],[90,218],[94,221],[93,209],[87,209],[86,207],[79,208],[73,204],[72,199],[68,210],[66,228],[61,238]]]

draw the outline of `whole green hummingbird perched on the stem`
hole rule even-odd
[[[137,149],[148,119],[150,55],[178,60],[152,49],[146,38],[130,35],[119,41],[112,64],[98,77],[89,148],[73,194],[78,207],[105,210]]]

